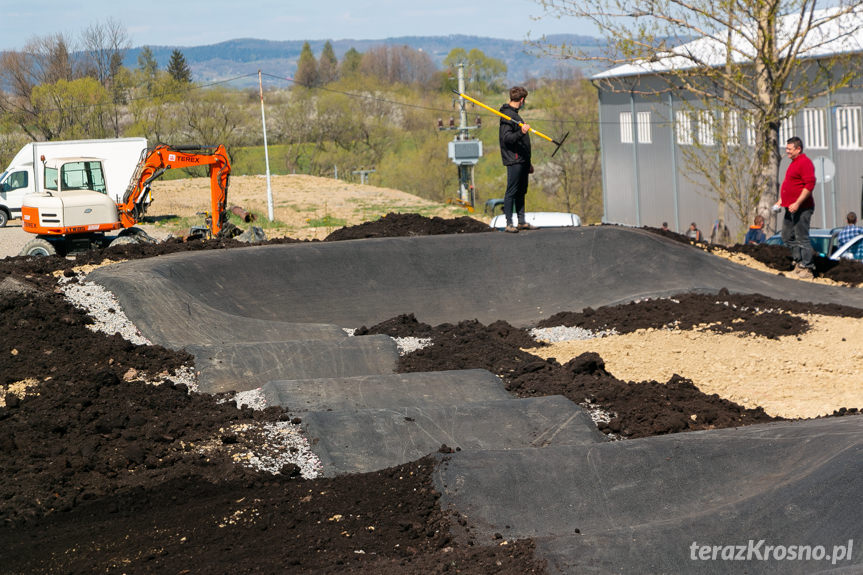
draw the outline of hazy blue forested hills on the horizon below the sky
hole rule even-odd
[[[309,40],[309,45],[315,57],[319,57],[326,40]],[[559,46],[562,44],[576,46],[582,49],[599,50],[604,40],[591,36],[558,34],[548,36],[543,41],[546,44]],[[196,82],[208,83],[252,74],[262,70],[277,76],[292,77],[297,67],[297,59],[305,41],[256,40],[241,38],[207,46],[150,46],[156,61],[165,68],[175,48],[183,53],[186,63],[192,70]],[[354,48],[365,52],[369,48],[381,45],[410,46],[422,50],[431,56],[432,61],[443,67],[443,60],[454,48],[470,51],[478,48],[486,56],[502,60],[507,66],[507,82],[517,84],[528,78],[549,76],[559,66],[575,66],[581,68],[587,75],[598,72],[589,68],[584,62],[575,60],[561,61],[552,57],[539,57],[525,42],[518,40],[502,40],[479,36],[403,36],[385,38],[382,40],[330,40],[336,57],[341,60],[345,52]],[[142,47],[126,52],[125,65],[136,67],[138,54]],[[238,81],[237,85],[252,86],[257,84],[257,78]]]

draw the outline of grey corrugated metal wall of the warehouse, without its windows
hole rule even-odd
[[[628,79],[621,79],[621,85]],[[686,161],[677,144],[672,118],[684,104],[679,96],[668,94],[645,96],[638,91],[662,88],[656,78],[629,79],[638,82],[630,92],[610,91],[597,86],[599,92],[600,130],[602,134],[603,199],[605,222],[634,226],[659,227],[668,222],[672,230],[685,232],[690,222],[697,222],[709,237],[718,215],[718,200],[704,183],[693,182],[694,174],[685,173]],[[652,82],[652,84],[651,84]],[[835,227],[845,223],[849,211],[860,214],[863,186],[863,149],[837,149],[837,114],[844,106],[863,106],[863,90],[845,90],[813,101],[809,108],[824,114],[825,146],[808,148],[804,135],[804,113],[793,119],[791,134],[804,140],[806,154],[815,162],[824,157],[835,166],[832,182],[816,186],[816,211],[813,227]],[[638,114],[650,113],[650,141],[639,141]],[[628,134],[632,143],[621,141],[621,113],[632,121]],[[860,143],[863,146],[863,111],[856,116]],[[642,132],[643,132],[642,128]],[[743,128],[741,137],[743,135]],[[782,143],[784,149],[784,142]],[[780,166],[780,181],[788,160]],[[696,177],[697,180],[697,177]],[[750,222],[738,221],[726,210],[726,221],[732,237],[742,234]]]

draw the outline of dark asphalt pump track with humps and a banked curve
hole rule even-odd
[[[850,563],[829,557],[860,534],[859,417],[610,442],[563,397],[513,399],[484,370],[396,374],[392,339],[343,329],[405,313],[530,326],[722,288],[863,307],[859,290],[608,226],[181,253],[89,279],[151,341],[194,354],[201,391],[261,388],[269,404],[302,413],[325,475],[449,451],[438,455],[441,504],[489,539],[534,538],[550,572],[738,573],[729,549],[748,554],[748,573],[863,565],[859,550]],[[807,546],[815,553],[797,557]]]

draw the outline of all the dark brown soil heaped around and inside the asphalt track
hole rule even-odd
[[[487,229],[469,218],[431,221],[391,214],[327,239]],[[2,571],[544,572],[532,541],[477,540],[469,522],[441,510],[432,483],[434,457],[374,473],[307,480],[296,469],[271,474],[237,465],[219,449],[203,455],[196,446],[237,442],[230,429],[238,424],[298,416],[282,408],[238,407],[230,394],[190,394],[184,385],[167,382],[168,373],[191,365],[193,358],[89,330],[88,316],[56,289],[58,272],[74,282],[73,268],[106,258],[244,248],[234,240],[176,240],[92,251],[75,260],[0,261]],[[788,261],[781,247],[735,249],[780,271]],[[861,264],[819,266],[828,277],[863,283]],[[567,312],[538,327],[623,334],[674,324],[679,330],[758,340],[802,336],[809,329],[805,314],[863,318],[857,308],[758,295],[680,294],[674,300],[674,305],[654,300]],[[765,309],[775,313],[753,311]],[[598,427],[615,439],[781,419],[759,406],[704,393],[698,381],[681,376],[618,379],[597,353],[561,361],[543,357],[543,344],[506,322],[465,319],[430,326],[405,315],[355,327],[357,336],[431,338],[433,345],[402,356],[399,371],[487,369],[514,396],[560,394],[606,414]],[[859,407],[837,406],[824,415],[856,416]]]

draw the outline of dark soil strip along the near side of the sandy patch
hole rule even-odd
[[[605,311],[610,312],[608,319],[620,317],[615,308],[600,308],[591,316],[605,324]],[[635,304],[628,314],[640,318],[633,321],[646,324],[656,321],[662,311]],[[400,316],[361,328],[357,333],[431,337],[431,346],[400,358],[399,371],[487,369],[517,397],[563,395],[607,412],[610,421],[598,425],[605,433],[634,438],[778,420],[761,408],[747,409],[717,395],[704,394],[691,381],[677,376],[666,383],[621,381],[605,371],[602,358],[595,353],[582,354],[563,365],[555,359],[542,359],[522,351],[539,345],[526,330],[503,321],[488,326],[463,321],[432,328],[410,319],[411,316]],[[750,327],[753,331],[763,327],[763,331],[773,333],[772,323],[768,320],[761,326],[753,319]],[[805,322],[792,323],[785,333],[800,333],[806,327]]]

